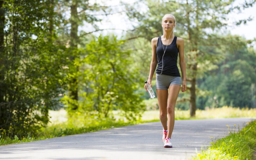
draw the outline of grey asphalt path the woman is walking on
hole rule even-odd
[[[0,146],[1,160],[180,160],[191,159],[215,138],[253,118],[176,120],[173,148],[164,148],[160,122]],[[213,137],[213,139],[211,139]]]

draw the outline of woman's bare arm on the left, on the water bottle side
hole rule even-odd
[[[150,71],[149,71],[149,76],[148,76],[148,84],[152,87],[151,81],[152,77],[154,75],[154,72],[156,70],[156,65],[157,65],[157,58],[156,58],[156,44],[157,44],[157,37],[153,38],[151,40],[151,48],[152,48],[152,60],[150,63]],[[145,87],[145,86],[144,86]],[[146,87],[145,87],[146,89]],[[147,89],[146,89],[147,90]]]

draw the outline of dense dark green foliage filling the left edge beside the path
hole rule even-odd
[[[65,47],[56,43],[54,28],[47,27],[53,16],[48,0],[6,0],[3,7],[0,127],[12,126],[14,134],[34,133],[47,124],[48,110],[58,107],[58,95],[64,92]]]

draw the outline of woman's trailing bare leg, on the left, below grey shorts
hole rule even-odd
[[[168,98],[168,90],[156,90],[157,100],[160,111],[160,121],[163,125],[163,129],[167,130],[167,98]]]

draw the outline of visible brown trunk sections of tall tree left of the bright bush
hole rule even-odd
[[[77,1],[73,0],[71,2],[71,16],[70,16],[70,23],[71,23],[71,31],[70,31],[70,47],[77,48],[78,42],[78,11],[77,11]],[[74,61],[74,56],[71,56],[69,60],[72,62]],[[75,67],[75,66],[74,66]],[[78,67],[72,69],[72,72],[77,72],[79,70]],[[69,91],[70,91],[70,98],[75,101],[78,101],[78,78],[75,76],[69,82]],[[77,109],[78,106],[76,104],[72,105],[72,109]]]

